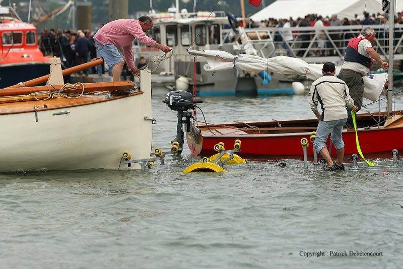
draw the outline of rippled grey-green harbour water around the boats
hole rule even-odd
[[[163,98],[153,96],[153,147],[168,151],[176,114]],[[210,122],[313,117],[307,96],[211,97],[199,106]],[[402,107],[396,98],[396,109]],[[280,160],[252,160],[226,173],[180,173],[198,160],[186,148],[182,157],[167,156],[165,165],[145,172],[0,175],[0,267],[403,264],[403,172],[325,172],[303,169],[301,160],[286,160],[285,168]],[[304,256],[314,251],[324,256]]]

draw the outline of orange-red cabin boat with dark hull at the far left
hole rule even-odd
[[[36,28],[0,1],[0,88],[49,74],[49,57],[38,48]]]

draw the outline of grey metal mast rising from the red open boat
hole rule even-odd
[[[392,115],[393,98],[393,29],[394,29],[394,0],[389,1],[389,69],[387,87],[387,114]]]

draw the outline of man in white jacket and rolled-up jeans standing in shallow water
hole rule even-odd
[[[313,147],[325,159],[325,170],[343,170],[344,141],[342,131],[347,121],[346,105],[354,111],[357,111],[358,107],[354,105],[354,100],[350,97],[349,87],[346,83],[334,76],[336,69],[332,62],[323,64],[322,74],[322,77],[312,83],[309,91],[309,105],[319,122]],[[320,104],[322,114],[317,110],[318,104]],[[331,142],[337,150],[337,161],[334,163],[326,146],[326,140],[330,133]]]

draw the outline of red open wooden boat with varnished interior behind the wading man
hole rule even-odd
[[[357,132],[361,150],[364,154],[390,153],[393,149],[403,150],[403,113],[393,112],[393,116],[377,126],[374,118],[386,119],[386,112],[359,114]],[[316,119],[298,119],[281,121],[224,122],[193,126],[186,133],[187,145],[195,155],[208,156],[216,153],[214,145],[225,144],[226,149],[233,149],[235,140],[241,140],[242,157],[288,156],[302,158],[301,139],[309,141],[312,131],[316,131]],[[197,134],[198,133],[198,134]],[[346,144],[345,154],[358,153],[354,129],[343,131]],[[312,144],[309,142],[309,144]],[[308,154],[313,155],[312,145]],[[333,149],[332,154],[335,154]]]

